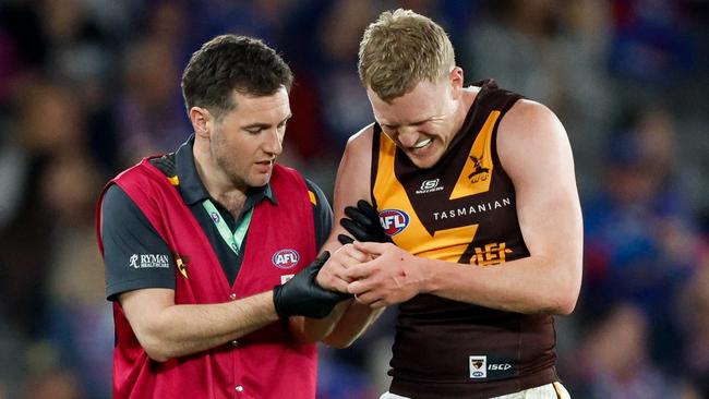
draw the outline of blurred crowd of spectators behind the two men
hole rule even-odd
[[[372,121],[362,31],[399,7],[447,29],[469,82],[548,105],[569,134],[585,275],[556,327],[573,397],[709,398],[704,0],[0,0],[0,398],[110,397],[95,202],[191,133],[192,51],[236,33],[281,52],[296,85],[280,161],[332,195],[347,137]],[[394,318],[321,347],[320,398],[386,390]]]

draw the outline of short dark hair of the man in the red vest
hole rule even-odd
[[[263,41],[221,35],[195,51],[182,74],[182,96],[192,107],[209,110],[217,120],[233,110],[231,93],[269,96],[285,86],[290,92],[293,75],[286,62]]]

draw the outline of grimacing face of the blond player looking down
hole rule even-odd
[[[434,166],[456,134],[456,94],[449,80],[423,80],[390,104],[366,90],[374,119],[419,168]]]

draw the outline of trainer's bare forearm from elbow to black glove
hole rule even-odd
[[[152,318],[136,335],[151,358],[165,361],[238,339],[278,316],[268,291],[227,303],[166,306]]]

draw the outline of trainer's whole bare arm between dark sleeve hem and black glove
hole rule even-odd
[[[176,305],[173,290],[149,288],[122,293],[119,301],[141,346],[157,361],[215,348],[278,319],[272,291],[233,302]]]

